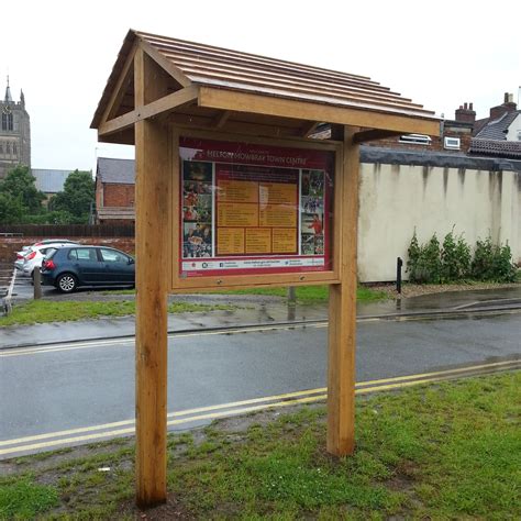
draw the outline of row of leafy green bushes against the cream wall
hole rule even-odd
[[[420,244],[417,232],[408,248],[407,271],[418,284],[456,282],[473,278],[480,281],[513,282],[517,268],[508,243],[495,245],[491,237],[478,240],[472,255],[463,235],[454,236],[454,229],[443,240],[434,234],[426,244]]]

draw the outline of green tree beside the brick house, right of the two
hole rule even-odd
[[[90,171],[75,170],[65,180],[64,191],[51,198],[48,209],[70,214],[73,222],[87,223],[93,201],[95,181]]]

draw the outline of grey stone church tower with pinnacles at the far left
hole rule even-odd
[[[0,99],[0,179],[18,165],[31,167],[31,123],[23,91],[14,102],[8,76],[5,95]]]

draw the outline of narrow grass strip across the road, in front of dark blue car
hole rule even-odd
[[[174,302],[168,306],[169,313],[191,313],[201,311],[232,310],[228,304],[197,304]],[[100,317],[124,317],[135,313],[135,301],[68,301],[33,300],[14,307],[8,317],[0,317],[0,328],[46,322],[99,319]]]

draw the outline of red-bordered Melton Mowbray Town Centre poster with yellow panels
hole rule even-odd
[[[181,137],[181,277],[331,269],[331,152]]]

